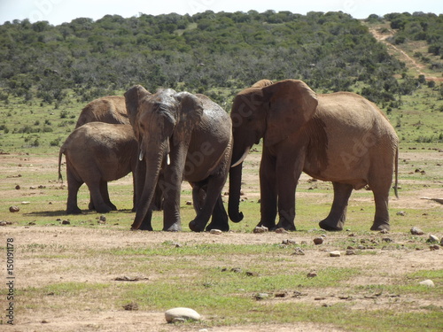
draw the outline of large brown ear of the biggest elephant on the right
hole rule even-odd
[[[274,145],[298,132],[311,120],[317,108],[315,92],[303,81],[284,80],[263,90],[263,103],[269,104],[265,144]]]

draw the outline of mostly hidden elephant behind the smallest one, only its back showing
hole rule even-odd
[[[93,100],[82,109],[75,128],[94,121],[129,125],[125,97],[106,96]]]

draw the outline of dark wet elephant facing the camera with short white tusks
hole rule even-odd
[[[204,95],[137,85],[125,93],[128,116],[146,161],[144,188],[131,229],[152,230],[152,195],[163,190],[163,230],[180,231],[180,191],[189,181],[197,216],[192,231],[229,230],[221,201],[232,151],[229,114]],[[163,179],[159,179],[160,171]],[[209,225],[206,224],[211,218]]]

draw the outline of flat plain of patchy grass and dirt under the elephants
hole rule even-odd
[[[372,194],[354,192],[347,230],[318,228],[330,209],[330,183],[303,175],[298,230],[253,234],[260,219],[260,146],[245,161],[245,220],[222,235],[194,234],[183,183],[183,232],[131,232],[131,178],[110,183],[119,211],[66,215],[57,181],[58,146],[83,104],[0,104],[0,248],[14,244],[14,323],[20,331],[440,331],[443,325],[443,101],[439,85],[402,97],[388,113],[400,137],[400,199],[392,198],[392,231],[369,231]],[[225,189],[228,191],[228,189]],[[393,197],[393,195],[392,195]],[[226,200],[228,196],[225,196]],[[82,188],[79,205],[89,193]],[[18,205],[20,211],[9,212]],[[63,225],[68,220],[69,224]],[[161,229],[154,212],[154,229]],[[424,235],[411,235],[413,226]],[[324,235],[324,243],[313,239]],[[290,241],[288,241],[290,240]],[[349,249],[351,248],[352,249]],[[304,255],[296,255],[296,248]],[[331,258],[329,252],[341,251]],[[346,255],[346,251],[354,253]],[[0,260],[2,283],[6,280]],[[314,273],[311,277],[307,274]],[[311,274],[312,275],[312,274]],[[120,279],[120,280],[119,280]],[[125,281],[126,279],[126,281]],[[419,282],[431,279],[434,288]],[[0,324],[8,290],[0,287]],[[192,307],[204,320],[167,324],[163,312]]]

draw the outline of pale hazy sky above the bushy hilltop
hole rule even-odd
[[[101,19],[107,14],[124,18],[144,14],[178,14],[197,12],[248,12],[255,10],[307,12],[346,12],[355,19],[370,14],[383,16],[391,12],[443,13],[442,0],[0,0],[0,24],[13,19],[31,22],[47,20],[52,25],[77,18]]]

